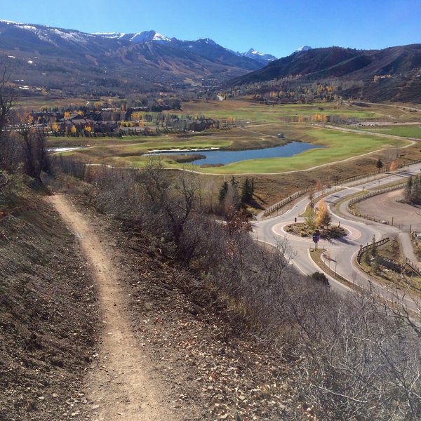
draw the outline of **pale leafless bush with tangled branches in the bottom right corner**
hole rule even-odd
[[[415,335],[400,321],[388,319],[368,297],[342,299],[340,306],[323,311],[323,323],[313,326],[321,329],[316,340],[304,329],[307,339],[294,376],[295,387],[314,406],[316,417],[419,419],[421,348]]]

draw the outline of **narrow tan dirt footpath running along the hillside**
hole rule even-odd
[[[99,291],[104,328],[98,365],[86,378],[92,420],[178,420],[163,387],[153,379],[147,355],[140,352],[131,330],[119,271],[112,266],[107,246],[100,242],[86,218],[64,196],[48,198],[79,237]]]

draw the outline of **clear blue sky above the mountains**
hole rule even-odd
[[[154,29],[277,57],[302,45],[386,48],[421,43],[421,0],[0,0],[0,19],[83,32]]]

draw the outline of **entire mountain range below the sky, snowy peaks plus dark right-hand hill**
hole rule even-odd
[[[275,60],[253,48],[234,52],[209,38],[180,41],[153,30],[99,35],[0,20],[0,60],[13,68],[13,82],[28,94],[208,91],[335,79],[354,83],[345,90],[340,86],[341,95],[421,101],[421,44],[382,50],[303,46]]]

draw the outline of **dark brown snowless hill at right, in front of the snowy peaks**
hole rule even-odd
[[[344,84],[341,95],[373,101],[421,102],[421,44],[383,50],[329,47],[297,51],[266,67],[229,81],[228,86],[328,81]],[[356,82],[352,88],[349,86]]]

